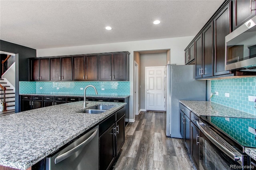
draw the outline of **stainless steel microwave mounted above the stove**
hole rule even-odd
[[[256,66],[256,16],[225,37],[225,69]]]

